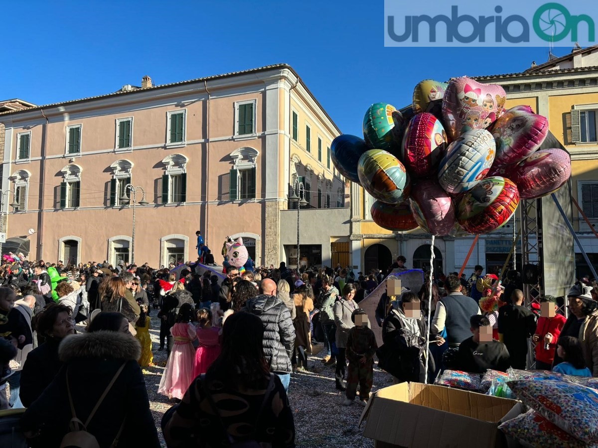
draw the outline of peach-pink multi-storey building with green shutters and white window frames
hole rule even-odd
[[[296,176],[313,186],[310,208],[346,204],[328,162],[340,131],[287,65],[160,86],[145,77],[139,88],[0,113],[0,123],[5,231],[28,240],[29,259],[116,264],[132,262],[134,246],[136,263],[168,265],[197,258],[200,230],[216,262],[233,236],[257,264],[276,264]],[[307,127],[311,141],[297,135]],[[127,184],[139,187],[134,242]]]

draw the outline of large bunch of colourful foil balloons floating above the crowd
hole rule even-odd
[[[425,79],[413,104],[368,108],[364,139],[343,134],[332,162],[376,201],[374,222],[392,231],[418,226],[436,236],[484,234],[504,225],[520,199],[559,189],[570,177],[569,154],[538,151],[548,119],[529,106],[505,109],[496,84],[463,76]]]

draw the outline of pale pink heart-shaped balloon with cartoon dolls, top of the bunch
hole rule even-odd
[[[472,129],[487,128],[507,101],[498,84],[481,84],[467,76],[451,79],[443,98],[443,123],[451,140]]]

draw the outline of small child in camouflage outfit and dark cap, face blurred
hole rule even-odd
[[[349,330],[346,356],[349,361],[347,370],[347,399],[343,402],[349,406],[355,400],[359,384],[359,400],[362,406],[370,398],[374,378],[374,354],[378,345],[374,332],[367,327],[368,317],[363,309],[356,309],[351,315],[355,327]]]

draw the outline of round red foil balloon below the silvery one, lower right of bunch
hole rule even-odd
[[[457,203],[459,225],[470,234],[485,234],[503,226],[519,205],[519,191],[505,177],[487,177]]]

